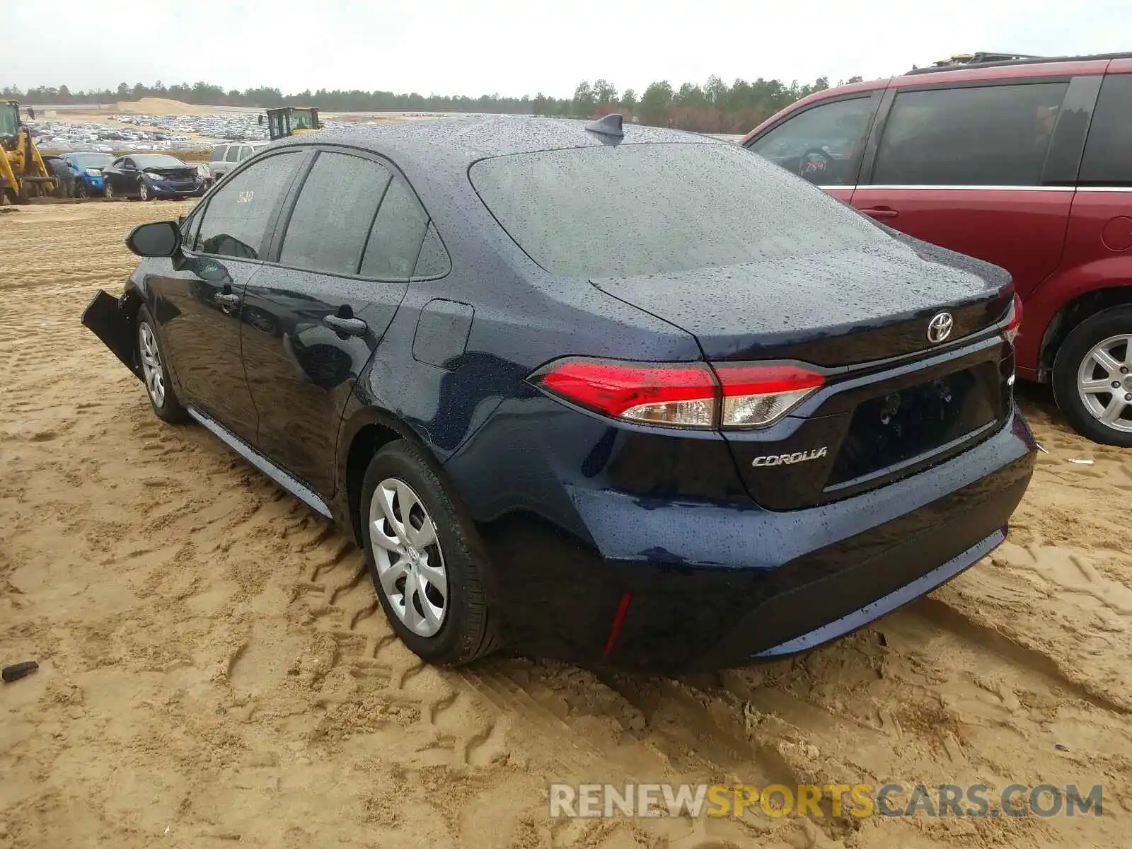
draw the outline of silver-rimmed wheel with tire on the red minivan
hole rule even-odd
[[[1132,307],[1106,309],[1073,328],[1057,351],[1053,388],[1079,434],[1132,447]]]

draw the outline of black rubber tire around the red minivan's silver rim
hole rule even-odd
[[[1065,337],[1057,358],[1054,360],[1053,389],[1057,406],[1073,429],[1081,436],[1105,445],[1132,447],[1132,431],[1117,430],[1100,421],[1090,412],[1078,392],[1078,372],[1090,351],[1113,336],[1132,336],[1132,306],[1114,307],[1089,316]],[[1129,343],[1132,345],[1132,342]],[[1125,349],[1126,350],[1126,349]],[[1132,395],[1132,351],[1125,354],[1124,372],[1118,372],[1116,381],[1123,381],[1117,392]],[[1100,396],[1104,398],[1105,396]],[[1101,401],[1101,403],[1107,403]],[[1132,402],[1130,402],[1132,403]],[[1132,406],[1125,408],[1121,420],[1132,428]]]

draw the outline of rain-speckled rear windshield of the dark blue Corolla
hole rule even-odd
[[[620,277],[876,245],[805,180],[727,144],[623,144],[497,156],[470,172],[512,239],[552,274]]]

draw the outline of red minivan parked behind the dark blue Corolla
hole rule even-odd
[[[831,88],[741,144],[865,215],[1003,266],[1022,378],[1132,446],[1132,53],[925,68]]]

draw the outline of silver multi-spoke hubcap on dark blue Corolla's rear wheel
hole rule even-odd
[[[369,503],[369,540],[380,591],[405,627],[434,636],[448,611],[448,575],[436,525],[412,487],[386,478]]]

